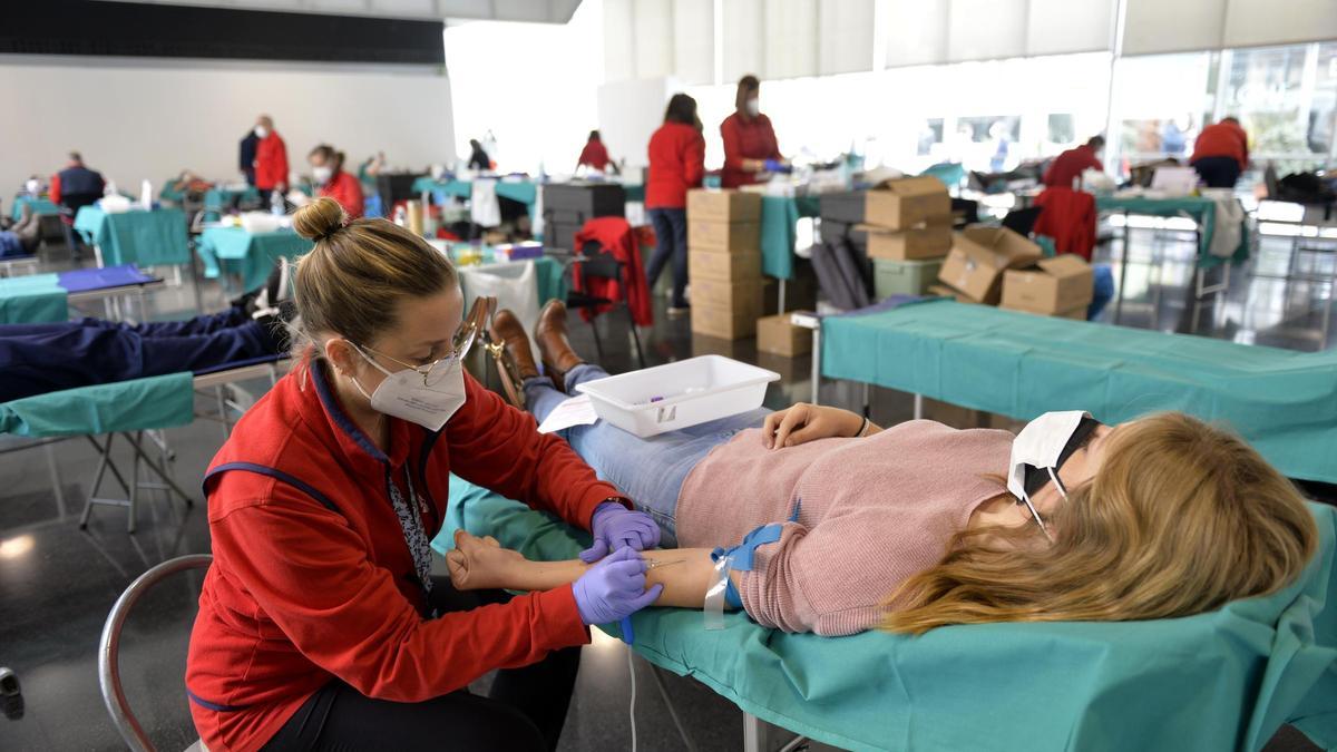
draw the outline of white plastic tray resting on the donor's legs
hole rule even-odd
[[[718,355],[705,355],[576,387],[594,411],[642,439],[690,428],[761,407],[766,384],[779,373]]]

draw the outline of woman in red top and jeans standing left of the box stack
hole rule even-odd
[[[673,260],[670,317],[687,313],[687,190],[699,187],[706,175],[706,140],[699,122],[697,100],[675,94],[668,100],[664,123],[650,136],[646,213],[655,227],[655,254],[646,276],[654,288]]]

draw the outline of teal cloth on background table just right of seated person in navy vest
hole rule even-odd
[[[186,214],[176,207],[107,214],[84,206],[75,214],[75,230],[102,249],[104,266],[190,264]]]

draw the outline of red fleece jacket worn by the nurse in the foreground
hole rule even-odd
[[[186,688],[214,751],[262,747],[336,678],[369,697],[417,702],[590,641],[571,587],[425,620],[388,483],[404,488],[412,474],[429,537],[441,529],[452,471],[583,529],[615,487],[468,375],[467,401],[439,434],[388,419],[389,455],[326,379],[313,365],[279,380],[206,475],[214,563]]]

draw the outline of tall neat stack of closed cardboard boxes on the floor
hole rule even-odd
[[[759,194],[687,194],[687,276],[694,333],[723,340],[757,333],[762,290]]]

